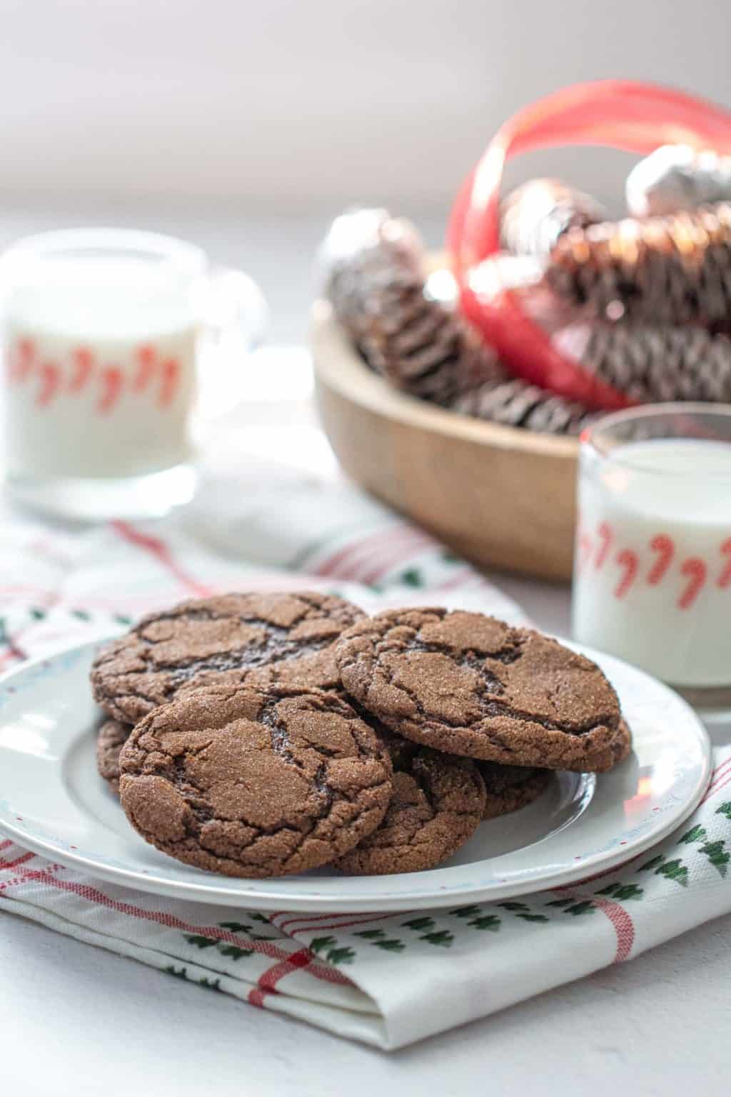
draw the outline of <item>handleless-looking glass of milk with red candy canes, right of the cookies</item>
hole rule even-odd
[[[618,411],[584,431],[576,640],[701,706],[731,700],[731,405]]]

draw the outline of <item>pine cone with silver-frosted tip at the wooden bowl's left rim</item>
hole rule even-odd
[[[327,283],[335,315],[368,364],[395,387],[436,404],[504,376],[495,353],[457,313],[431,296],[423,251],[414,246],[418,238],[407,231],[408,223],[396,223],[401,226],[397,230],[395,218],[372,213],[376,231],[368,228],[359,247],[341,252]]]

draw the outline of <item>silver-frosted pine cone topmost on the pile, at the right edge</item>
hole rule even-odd
[[[731,201],[731,157],[663,145],[632,168],[625,184],[632,217],[662,216]]]

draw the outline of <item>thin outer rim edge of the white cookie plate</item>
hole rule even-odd
[[[7,681],[11,680],[15,676],[30,671],[36,666],[49,663],[64,655],[70,655],[72,652],[81,652],[85,648],[96,647],[118,635],[119,632],[115,631],[110,633],[106,637],[96,636],[82,643],[61,645],[57,648],[48,651],[43,655],[37,656],[34,659],[28,659],[21,666],[13,667],[12,669],[0,675],[0,688],[2,688]],[[557,869],[552,873],[541,875],[539,879],[526,878],[522,881],[505,881],[502,884],[495,884],[493,882],[486,884],[482,887],[479,884],[466,885],[462,887],[447,885],[442,889],[430,885],[423,893],[419,893],[419,891],[416,891],[414,893],[410,893],[408,896],[393,896],[391,898],[381,895],[363,896],[357,900],[349,900],[338,894],[320,894],[317,896],[297,897],[289,895],[286,890],[283,892],[276,890],[259,892],[256,891],[259,881],[247,880],[244,878],[241,878],[241,883],[253,885],[253,890],[240,891],[235,890],[233,887],[221,890],[216,883],[216,881],[221,878],[214,873],[206,873],[204,879],[202,879],[202,882],[197,883],[194,881],[175,881],[167,879],[164,877],[156,875],[152,871],[141,872],[134,869],[110,866],[104,861],[94,859],[93,857],[88,857],[83,853],[69,850],[64,846],[56,844],[53,839],[34,837],[22,826],[16,826],[12,821],[5,821],[2,818],[0,818],[0,833],[8,835],[8,837],[15,840],[20,846],[32,850],[34,853],[39,853],[43,857],[52,856],[55,861],[66,868],[81,870],[95,880],[103,880],[117,886],[189,902],[212,903],[219,906],[249,905],[252,908],[261,911],[286,909],[287,912],[292,911],[293,913],[388,914],[399,913],[406,909],[437,909],[446,906],[454,906],[455,902],[460,905],[469,902],[498,902],[499,900],[527,895],[534,892],[552,891],[557,887],[563,887],[566,885],[576,883],[578,881],[586,880],[587,878],[595,875],[597,872],[602,872],[602,874],[608,873],[613,869],[616,869],[630,860],[635,860],[636,857],[639,857],[648,849],[663,841],[673,830],[681,826],[681,824],[689,815],[693,814],[703,800],[711,779],[713,760],[712,744],[698,714],[681,697],[681,694],[676,693],[676,691],[670,686],[666,686],[659,679],[653,678],[652,675],[641,670],[639,667],[635,667],[631,664],[626,663],[624,659],[619,659],[608,653],[597,652],[585,644],[575,643],[574,641],[566,640],[559,636],[556,638],[566,646],[585,654],[589,658],[608,658],[612,663],[618,664],[623,668],[627,667],[631,672],[649,679],[653,687],[660,687],[661,690],[671,693],[674,700],[679,702],[681,706],[684,708],[689,714],[696,738],[703,754],[703,770],[696,787],[693,790],[692,795],[688,795],[687,800],[685,800],[682,807],[679,807],[677,812],[663,813],[663,816],[659,815],[658,826],[648,835],[631,839],[626,846],[617,847],[615,850],[599,850],[595,853],[589,855],[587,857],[582,858],[581,863],[578,866],[564,866],[561,869]],[[666,818],[664,818],[665,814],[667,815]],[[409,875],[411,879],[415,880],[420,873],[401,873],[401,875]],[[208,879],[213,882],[208,883]],[[233,878],[222,879],[228,880]],[[283,881],[287,881],[290,878],[287,877],[282,878]],[[266,882],[269,883],[270,881]]]

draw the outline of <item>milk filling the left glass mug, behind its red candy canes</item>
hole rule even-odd
[[[3,299],[11,476],[126,477],[191,455],[196,324],[164,264],[65,252]]]

